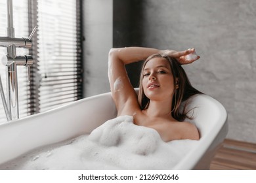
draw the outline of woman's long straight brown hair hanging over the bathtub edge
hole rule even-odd
[[[178,88],[174,86],[175,88],[175,93],[173,94],[173,103],[171,104],[171,115],[173,118],[175,118],[178,121],[183,121],[185,118],[191,119],[192,116],[188,116],[188,112],[186,111],[186,105],[181,110],[181,103],[183,101],[186,101],[189,97],[192,95],[202,93],[196,88],[194,88],[190,81],[188,80],[188,76],[186,75],[184,69],[181,67],[181,64],[177,59],[171,58],[166,55],[161,55],[161,54],[154,54],[146,59],[144,61],[144,64],[142,65],[142,70],[140,74],[140,86],[139,86],[139,95],[138,95],[138,100],[139,100],[139,105],[140,108],[146,109],[148,108],[148,105],[150,103],[150,99],[146,97],[143,87],[142,87],[142,80],[143,80],[143,71],[146,63],[150,61],[153,58],[164,58],[166,61],[168,61],[170,67],[171,67],[171,73],[173,74],[173,84],[176,86],[178,84]],[[178,82],[176,82],[178,81]]]

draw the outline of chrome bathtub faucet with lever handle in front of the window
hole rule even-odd
[[[16,48],[31,48],[31,39],[37,27],[33,29],[29,38],[14,37],[12,0],[7,0],[7,21],[7,37],[0,37],[0,46],[7,48],[7,55],[2,58],[3,65],[7,67],[7,99],[3,92],[1,76],[0,92],[7,120],[10,121],[19,118],[17,66],[23,65],[28,68],[28,81],[30,81],[30,67],[33,65],[32,56],[16,56]]]

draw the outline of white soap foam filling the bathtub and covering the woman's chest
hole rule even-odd
[[[0,169],[172,169],[198,141],[163,142],[155,129],[119,116],[90,135],[47,146]]]

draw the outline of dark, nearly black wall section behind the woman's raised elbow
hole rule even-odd
[[[113,1],[113,47],[141,46],[143,24],[141,17],[142,1],[114,0]],[[139,87],[139,75],[142,63],[125,65],[133,87]]]

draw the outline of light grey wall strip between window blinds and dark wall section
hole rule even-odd
[[[84,96],[110,92],[108,52],[113,47],[113,0],[83,1]]]

